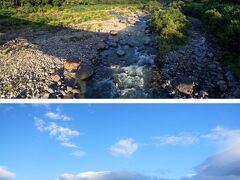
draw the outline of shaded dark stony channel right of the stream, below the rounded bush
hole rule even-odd
[[[239,98],[239,82],[220,62],[214,38],[201,29],[198,19],[189,21],[186,45],[159,59],[162,87],[174,98]]]

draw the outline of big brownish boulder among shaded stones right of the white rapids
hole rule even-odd
[[[176,80],[176,89],[187,95],[191,95],[194,90],[194,82],[189,77],[181,77]]]

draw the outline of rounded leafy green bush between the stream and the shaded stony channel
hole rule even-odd
[[[156,12],[150,22],[153,30],[159,33],[161,53],[186,42],[188,20],[179,9],[173,7]]]

